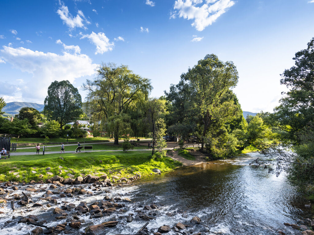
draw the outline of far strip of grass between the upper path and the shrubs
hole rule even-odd
[[[18,138],[18,141],[16,141],[16,138],[11,138],[12,143],[44,143],[44,137],[38,137],[38,138]],[[130,137],[130,139],[136,139],[136,137]],[[113,140],[113,138],[109,137],[86,137],[86,138],[68,138],[68,142],[84,142],[84,141],[109,141]],[[121,139],[123,140],[123,139]],[[55,142],[67,142],[67,138],[50,138],[49,143],[55,143]]]

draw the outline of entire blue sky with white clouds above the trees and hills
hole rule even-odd
[[[272,112],[280,74],[314,37],[314,0],[1,0],[0,97],[43,103],[101,63],[128,65],[160,97],[207,54],[233,61],[242,110]]]

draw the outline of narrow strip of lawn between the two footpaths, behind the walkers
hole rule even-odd
[[[85,145],[89,145],[89,144],[85,144]],[[61,145],[60,145],[61,146]],[[67,146],[67,144],[64,145],[64,150],[65,152],[73,152],[75,149],[77,148],[77,145],[70,145]],[[134,149],[147,149],[146,146],[135,146]],[[43,150],[43,146],[41,146],[40,149],[40,154],[42,154],[42,150]],[[93,150],[122,150],[122,144],[119,145],[114,145],[114,144],[93,144]],[[45,152],[48,151],[60,151],[60,147],[49,147],[46,146],[45,147]],[[34,152],[34,154],[36,154],[36,149],[35,146],[32,149],[16,149],[17,153],[25,153],[25,152]],[[84,152],[84,150],[82,150],[82,152]]]

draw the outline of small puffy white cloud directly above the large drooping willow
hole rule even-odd
[[[96,52],[95,55],[98,53],[103,54],[104,52],[107,52],[108,50],[112,50],[115,46],[114,42],[109,42],[109,38],[106,37],[104,33],[94,33],[91,34],[81,34],[83,38],[88,38],[90,42],[96,45]]]

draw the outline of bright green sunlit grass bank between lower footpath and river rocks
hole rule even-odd
[[[60,176],[68,178],[68,173],[77,177],[80,174],[101,175],[101,173],[106,173],[107,175],[115,175],[119,171],[122,173],[121,176],[132,175],[133,172],[148,175],[154,168],[166,172],[181,166],[181,163],[167,157],[154,159],[147,151],[47,154],[45,156],[22,155],[0,160],[0,181],[37,181],[40,180],[40,174],[43,175],[41,179],[46,180],[51,177],[46,175],[46,168],[51,167],[49,171],[54,175],[58,175],[59,165],[63,167]],[[73,171],[70,169],[73,169]],[[18,172],[20,177],[16,178],[13,175],[14,172],[9,173],[12,170]],[[33,170],[36,171],[35,174],[31,173]],[[65,170],[68,170],[68,172]]]

